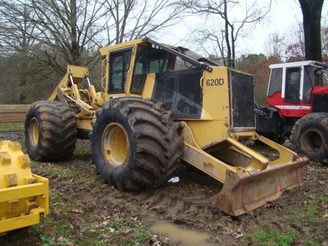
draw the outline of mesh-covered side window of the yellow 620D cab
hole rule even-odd
[[[132,50],[109,54],[109,87],[110,93],[122,93],[125,89],[127,73],[130,68]]]

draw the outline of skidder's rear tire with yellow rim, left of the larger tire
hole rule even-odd
[[[31,159],[64,160],[76,144],[74,112],[60,101],[36,101],[26,113],[25,144]]]

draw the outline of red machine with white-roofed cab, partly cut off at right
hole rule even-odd
[[[282,144],[290,138],[292,148],[313,161],[328,163],[328,86],[318,61],[270,65],[267,102],[255,105],[257,131]]]

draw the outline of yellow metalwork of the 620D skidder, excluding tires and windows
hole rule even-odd
[[[160,50],[168,50],[168,52],[178,56],[176,53],[178,48],[150,42],[150,39],[147,38],[99,49],[101,92],[91,92],[94,90],[92,87],[90,87],[91,90],[89,89],[91,97],[98,98],[98,106],[103,101],[108,101],[114,97],[141,96],[151,98],[154,96],[154,88],[156,87],[156,80],[158,80],[156,73],[145,74],[144,84],[139,93],[132,92],[131,89],[134,76],[140,76],[136,75],[135,72],[139,66],[136,64],[139,48],[153,46],[160,46]],[[124,90],[119,93],[117,91],[112,92],[109,87],[111,83],[109,75],[110,54],[124,50],[131,50]],[[234,100],[231,93],[231,81],[233,79],[231,74],[237,73],[240,76],[248,77],[252,75],[227,67],[204,66],[193,59],[189,59],[189,61],[196,65],[199,64],[201,68],[201,77],[196,83],[201,88],[202,100],[199,117],[175,118],[176,121],[182,121],[185,126],[182,130],[185,139],[182,159],[224,183],[221,192],[214,201],[215,204],[224,212],[237,216],[277,199],[285,189],[301,186],[303,183],[302,166],[308,161],[308,158],[299,156],[265,137],[258,136],[255,132],[255,125],[251,127],[234,126],[232,115],[236,106],[233,105]],[[87,76],[86,68],[74,67],[74,70],[71,68],[72,66],[68,66],[67,74],[49,100],[61,100],[69,106],[74,105],[74,107],[77,105],[80,108],[79,111],[76,111],[78,131],[91,131],[91,120],[95,117],[94,110],[96,110],[95,100],[84,100],[91,107],[88,108],[77,103],[72,104],[72,100],[68,97],[58,96],[58,92],[64,92],[76,100],[80,98],[79,94],[86,94],[78,88],[77,80],[74,85],[71,85],[72,83],[68,79],[70,74],[73,77],[79,77],[79,79],[85,78]],[[188,70],[186,71],[188,73]],[[165,74],[165,72],[162,73]],[[79,75],[76,76],[76,74]],[[240,80],[238,83],[243,83],[243,81]],[[241,91],[240,93],[246,92]],[[249,95],[252,97],[254,105],[253,92]],[[252,117],[255,115],[251,115]],[[241,141],[244,140],[262,141],[278,151],[279,157],[275,160],[269,160],[241,144]]]

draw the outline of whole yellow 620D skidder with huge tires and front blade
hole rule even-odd
[[[67,126],[61,140],[70,147],[65,156],[76,135],[89,132],[97,174],[118,189],[134,191],[166,182],[183,160],[224,183],[214,203],[233,216],[302,185],[307,158],[255,132],[252,75],[149,38],[101,48],[99,53],[100,92],[93,92],[92,86],[80,89],[87,68],[69,66],[49,98],[56,105],[51,107],[63,112],[49,124],[58,131],[56,124]],[[50,110],[49,101],[37,102],[31,110],[43,104]],[[46,111],[34,114],[38,112]],[[49,137],[39,134],[29,153],[53,157],[44,146],[63,147],[48,140],[53,133],[43,118],[39,120],[40,133]],[[247,139],[264,142],[279,158],[270,161],[240,143]]]

